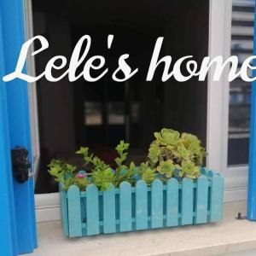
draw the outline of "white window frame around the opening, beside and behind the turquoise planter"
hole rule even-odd
[[[231,15],[232,0],[209,0],[209,56],[230,56]],[[247,166],[227,166],[230,94],[228,73],[229,69],[226,68],[218,82],[212,79],[213,69],[210,69],[208,75],[207,167],[224,173],[224,201],[237,201],[247,198]],[[35,195],[35,198],[38,222],[61,218],[58,193]]]

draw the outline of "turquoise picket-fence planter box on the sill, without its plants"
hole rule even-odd
[[[81,192],[77,186],[61,190],[62,226],[65,236],[92,236],[150,230],[187,224],[205,224],[223,218],[224,177],[201,170],[196,183],[185,177],[171,178],[151,186],[123,182],[119,189],[98,191],[91,184]]]

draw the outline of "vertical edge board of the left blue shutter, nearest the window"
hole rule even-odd
[[[15,71],[20,47],[25,41],[22,0],[0,1],[5,74]],[[26,67],[23,70],[26,73]],[[9,115],[10,146],[26,147],[32,162],[29,103],[26,82],[15,79],[6,84]],[[33,179],[20,184],[14,181],[15,222],[18,253],[32,253],[37,247]]]

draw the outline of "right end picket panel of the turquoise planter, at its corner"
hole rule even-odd
[[[219,173],[209,174],[212,176],[210,221],[215,222],[223,218],[224,177]]]

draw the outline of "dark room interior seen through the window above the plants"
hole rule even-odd
[[[120,139],[131,144],[133,160],[145,160],[154,131],[162,127],[195,133],[206,144],[207,81],[163,83],[163,65],[153,81],[146,82],[146,76],[158,37],[165,38],[161,56],[172,55],[173,61],[193,55],[200,62],[207,55],[208,9],[205,0],[33,1],[34,34],[49,40],[49,49],[37,55],[37,73],[50,57],[70,56],[84,34],[92,38],[88,56],[104,55],[109,68],[108,76],[96,83],[38,81],[41,166],[36,193],[58,189],[46,167],[52,158],[81,166],[74,154],[81,145],[113,164]],[[111,49],[108,34],[114,35]],[[111,74],[125,53],[139,72],[117,83]]]

